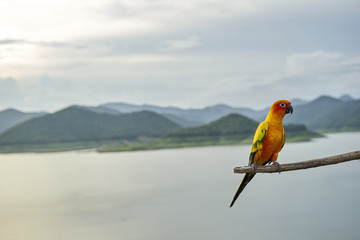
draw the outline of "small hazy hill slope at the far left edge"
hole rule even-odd
[[[25,113],[16,109],[6,109],[0,112],[0,134],[10,129],[11,127],[24,122],[28,119],[43,116],[45,112],[30,112]]]

